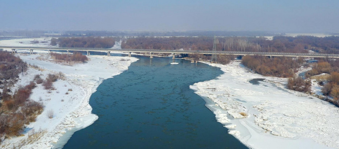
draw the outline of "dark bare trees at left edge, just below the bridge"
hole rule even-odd
[[[15,82],[22,71],[27,70],[27,64],[19,57],[0,51],[0,88],[8,81]]]

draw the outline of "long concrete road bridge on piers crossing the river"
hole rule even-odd
[[[65,51],[70,54],[70,51],[85,51],[87,55],[90,52],[106,52],[107,56],[110,56],[112,52],[124,52],[128,53],[131,57],[131,53],[149,53],[150,58],[153,58],[154,53],[166,53],[172,54],[173,59],[175,54],[216,54],[216,55],[259,55],[269,57],[308,57],[308,58],[335,58],[339,59],[339,54],[319,54],[319,53],[278,53],[278,52],[238,52],[238,51],[195,51],[195,50],[156,50],[156,49],[106,49],[106,48],[64,48],[64,47],[31,47],[31,46],[1,46],[0,49],[12,49],[12,53],[15,50],[29,50],[30,54],[33,54],[33,50],[46,50],[50,54],[51,51]]]

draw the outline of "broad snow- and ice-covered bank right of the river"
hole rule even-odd
[[[240,62],[219,67],[225,74],[190,86],[229,133],[254,149],[339,148],[339,108],[284,89],[287,79],[253,74]],[[259,84],[249,80],[264,78]],[[241,114],[241,112],[246,113]]]

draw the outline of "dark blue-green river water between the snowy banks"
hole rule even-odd
[[[138,58],[98,86],[89,100],[98,120],[75,132],[64,149],[246,149],[189,89],[222,74],[219,68]]]

